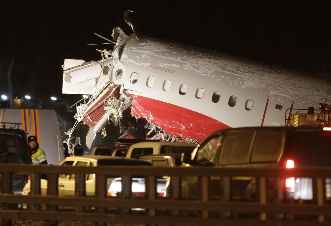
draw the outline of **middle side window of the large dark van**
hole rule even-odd
[[[243,164],[249,162],[249,151],[255,130],[234,130],[224,136],[220,165]]]

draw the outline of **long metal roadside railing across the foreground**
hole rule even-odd
[[[32,165],[0,165],[1,189],[0,218],[7,225],[11,219],[40,219],[57,221],[85,221],[98,223],[128,223],[148,225],[330,225],[331,205],[327,203],[325,178],[330,178],[329,168],[218,168],[218,167],[151,167],[148,166],[32,166]],[[11,192],[12,175],[29,174],[31,176],[31,194],[15,195]],[[47,175],[47,195],[41,194],[41,174]],[[75,195],[59,196],[58,175],[75,175]],[[86,197],[85,175],[95,174],[95,196]],[[109,175],[122,177],[120,198],[107,197],[107,178]],[[146,178],[146,197],[136,199],[131,195],[131,177],[141,175]],[[171,193],[169,199],[157,197],[156,179],[161,175],[171,177]],[[181,178],[196,176],[199,187],[199,199],[181,199]],[[219,177],[222,184],[221,198],[211,199],[210,180]],[[256,179],[256,195],[252,202],[241,202],[231,199],[231,177],[254,177]],[[312,178],[313,200],[305,203],[285,203],[282,192],[277,191],[280,178],[307,177]],[[270,178],[276,178],[278,185],[271,186]],[[278,178],[278,179],[277,179]],[[277,183],[275,183],[277,184]],[[270,188],[274,191],[270,192]],[[281,190],[281,189],[280,189]],[[271,195],[273,194],[273,195]],[[12,203],[29,203],[31,208],[14,209]],[[46,205],[46,210],[41,208]],[[72,206],[74,211],[58,211],[59,206]],[[86,207],[93,207],[87,211]],[[131,208],[144,208],[144,215],[130,211]],[[109,208],[120,211],[109,212]],[[162,213],[159,213],[162,210]],[[197,216],[181,215],[183,211],[195,211]],[[211,213],[219,213],[217,217]],[[257,217],[241,217],[240,214],[255,213]],[[167,214],[167,215],[166,215]],[[305,216],[296,220],[296,215]],[[128,217],[129,216],[129,217]],[[287,216],[287,217],[284,217]],[[310,218],[309,218],[310,216]],[[309,219],[307,219],[309,218]]]

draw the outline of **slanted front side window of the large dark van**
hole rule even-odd
[[[197,153],[197,162],[210,161],[213,162],[217,148],[218,148],[219,136],[211,138],[203,146],[200,146]]]

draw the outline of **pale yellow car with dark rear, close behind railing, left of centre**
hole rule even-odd
[[[63,166],[113,166],[113,165],[144,165],[151,166],[149,162],[138,160],[138,159],[128,159],[119,158],[111,156],[72,156],[65,158],[59,165]],[[110,172],[110,174],[113,174]],[[107,178],[107,183],[109,184],[113,178]],[[134,181],[135,178],[132,178]],[[86,176],[86,196],[95,195],[95,174],[88,174]],[[60,174],[59,175],[59,196],[73,196],[75,194],[75,174]],[[47,194],[47,180],[40,180],[41,195]],[[134,190],[134,189],[133,189]],[[26,183],[23,189],[23,195],[28,195],[30,193],[30,182]],[[28,205],[24,204],[23,208],[27,208]]]

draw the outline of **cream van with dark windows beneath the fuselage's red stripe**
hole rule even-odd
[[[191,153],[197,144],[182,142],[140,142],[130,146],[126,158],[140,158],[145,155],[169,154],[169,153]],[[116,153],[113,152],[115,156]]]

